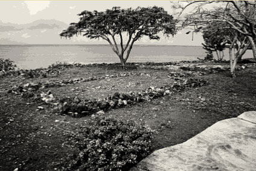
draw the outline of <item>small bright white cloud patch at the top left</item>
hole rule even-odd
[[[39,11],[44,10],[45,8],[49,7],[50,1],[24,1],[30,10],[30,14],[34,15]]]

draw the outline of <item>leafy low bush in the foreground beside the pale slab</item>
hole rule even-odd
[[[151,151],[153,131],[133,122],[97,117],[75,135],[75,153],[63,170],[129,170]]]

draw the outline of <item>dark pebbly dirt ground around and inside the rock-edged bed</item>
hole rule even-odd
[[[74,118],[51,112],[43,101],[22,98],[7,93],[13,85],[28,82],[60,81],[69,78],[112,75],[120,72],[142,73],[80,82],[63,87],[51,87],[55,98],[104,98],[114,92],[140,91],[150,86],[172,84],[170,70],[111,69],[106,67],[73,68],[57,77],[25,79],[8,76],[0,79],[0,170],[58,170],[72,147],[68,145],[76,126],[85,125],[91,116]],[[147,75],[145,75],[146,73]],[[231,78],[228,71],[209,75],[192,75],[210,84],[170,96],[117,108],[104,114],[120,120],[146,123],[155,129],[153,151],[182,143],[219,120],[236,117],[244,111],[256,110],[256,67],[237,72]],[[77,88],[78,87],[78,88]],[[39,93],[39,92],[36,92]],[[37,107],[43,107],[38,110]]]

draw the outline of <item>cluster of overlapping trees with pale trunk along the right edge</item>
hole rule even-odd
[[[213,51],[223,51],[224,46],[228,47],[232,77],[235,77],[237,61],[249,47],[256,59],[256,3],[254,1],[172,3],[173,8],[179,10],[178,19],[181,28],[194,28],[193,33],[203,31],[204,40],[208,44],[205,48],[210,52],[208,54],[211,55]],[[221,58],[219,54],[217,57]]]

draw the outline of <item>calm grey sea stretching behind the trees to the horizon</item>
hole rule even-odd
[[[225,56],[228,57],[227,52]],[[246,57],[252,57],[246,52]],[[204,58],[200,46],[135,45],[127,62],[170,62]],[[0,58],[10,58],[20,69],[47,67],[61,62],[119,63],[109,45],[0,45]]]

